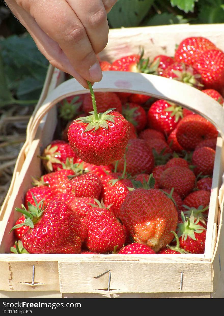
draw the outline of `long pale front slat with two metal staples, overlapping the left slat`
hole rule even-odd
[[[211,264],[189,262],[171,264],[129,261],[59,262],[59,282],[62,293],[99,293],[108,289],[111,271],[111,293],[212,292]],[[180,289],[181,272],[183,288]]]

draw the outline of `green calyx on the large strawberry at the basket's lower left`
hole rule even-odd
[[[34,224],[39,220],[40,216],[43,214],[43,211],[45,210],[43,204],[44,199],[42,199],[39,203],[37,203],[36,198],[34,197],[32,193],[34,203],[35,205],[32,205],[30,202],[28,202],[28,210],[25,208],[24,205],[22,205],[22,209],[16,207],[16,212],[20,212],[25,216],[25,222],[21,224],[17,224],[11,228],[10,232],[13,229],[22,227],[22,226],[28,226],[30,228],[34,228]]]

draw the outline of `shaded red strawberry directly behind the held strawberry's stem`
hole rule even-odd
[[[121,100],[115,92],[95,92],[94,94],[96,98],[97,111],[99,113],[106,112],[111,108],[121,113]],[[83,110],[86,113],[86,115],[88,115],[89,112],[93,110],[92,98],[90,93],[84,94]]]

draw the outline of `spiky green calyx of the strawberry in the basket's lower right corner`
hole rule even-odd
[[[183,211],[181,212],[182,223],[178,223],[178,237],[182,236],[182,240],[186,240],[190,237],[193,240],[196,240],[195,233],[200,234],[203,232],[204,228],[201,225],[198,225],[200,218],[197,218],[195,221],[195,217],[193,211],[191,212],[190,217],[184,217]]]

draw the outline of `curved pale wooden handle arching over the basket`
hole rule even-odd
[[[224,109],[214,99],[188,84],[156,75],[143,73],[103,71],[103,79],[93,86],[94,91],[132,92],[151,95],[155,98],[174,102],[189,110],[201,114],[219,131],[224,140]],[[73,94],[88,93],[75,79],[61,83],[48,94],[40,109],[36,112],[30,127],[28,139],[35,138],[38,126],[47,112],[60,100]]]

